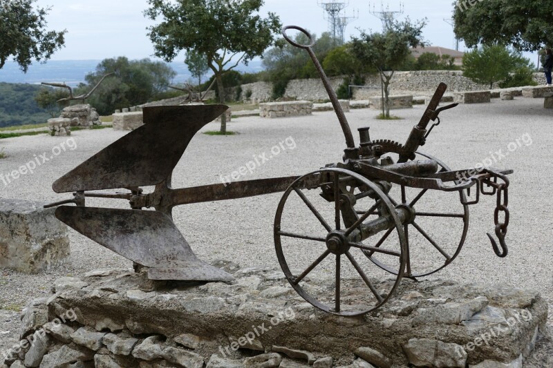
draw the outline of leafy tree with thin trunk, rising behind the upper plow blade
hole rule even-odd
[[[270,12],[262,18],[257,12],[263,0],[148,0],[144,12],[152,20],[162,18],[149,27],[155,55],[166,61],[178,52],[192,50],[207,57],[207,65],[217,80],[219,100],[225,103],[223,75],[241,62],[259,56],[272,45],[279,32],[279,17]],[[226,134],[225,114],[221,117],[221,133]]]

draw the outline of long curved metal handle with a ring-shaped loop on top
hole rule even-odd
[[[302,32],[304,35],[306,35],[309,38],[310,44],[301,45],[300,43],[292,41],[292,39],[290,39],[290,37],[286,35],[286,31],[290,29],[299,30],[299,32]],[[353,140],[353,134],[351,133],[350,125],[348,124],[348,119],[346,119],[344,110],[342,110],[341,108],[341,105],[338,101],[338,96],[332,89],[332,86],[330,86],[330,81],[328,81],[328,77],[326,77],[323,67],[321,66],[321,63],[319,63],[319,59],[317,59],[315,52],[313,52],[312,46],[315,45],[315,41],[313,41],[313,37],[311,37],[310,33],[307,30],[304,30],[303,28],[298,26],[285,26],[284,28],[282,28],[282,35],[284,36],[284,39],[288,41],[292,46],[295,46],[297,48],[303,48],[303,50],[307,50],[307,52],[309,53],[309,56],[311,57],[313,64],[315,64],[315,68],[317,69],[317,71],[319,72],[319,75],[321,76],[321,81],[324,84],[326,93],[328,93],[328,98],[330,98],[330,102],[332,102],[332,107],[334,108],[335,113],[338,117],[338,121],[340,122],[341,130],[344,132],[344,136],[346,137],[346,145],[348,146],[348,148],[355,149],[355,141]]]

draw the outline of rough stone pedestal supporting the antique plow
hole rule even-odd
[[[547,331],[547,302],[507,285],[404,280],[380,309],[346,318],[304,302],[272,267],[226,262],[225,271],[236,280],[156,285],[109,270],[62,278],[23,318],[58,326],[26,322],[21,338],[46,335],[32,358],[47,367],[70,356],[97,367],[465,368],[520,367]],[[304,289],[326,284],[319,276]],[[370,293],[355,280],[359,296]],[[382,292],[390,281],[374,284]]]

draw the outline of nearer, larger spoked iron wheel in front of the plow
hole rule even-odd
[[[380,205],[384,206],[384,208],[389,211],[391,218],[393,219],[392,231],[395,230],[395,233],[397,233],[397,237],[400,242],[400,251],[394,252],[394,257],[397,258],[397,267],[400,270],[404,270],[406,265],[406,241],[402,223],[395,213],[393,204],[388,200],[386,194],[384,194],[376,184],[367,180],[361,175],[340,168],[323,168],[307,175],[303,175],[303,177],[300,177],[298,180],[290,185],[290,187],[283,194],[281,201],[279,202],[277,214],[275,215],[274,220],[274,244],[277,251],[277,258],[279,259],[279,264],[281,265],[284,275],[288,282],[290,282],[292,288],[297,291],[301,298],[312,304],[314,307],[321,309],[322,311],[333,313],[338,316],[363,315],[365,313],[373,311],[374,309],[379,308],[392,296],[395,289],[397,289],[401,282],[403,271],[395,273],[396,278],[393,282],[393,285],[391,285],[391,287],[389,288],[389,291],[377,290],[377,288],[375,287],[375,282],[370,280],[366,273],[366,270],[364,270],[362,265],[357,262],[359,258],[364,258],[359,257],[359,255],[362,256],[362,247],[365,247],[365,249],[368,249],[368,247],[364,246],[364,244],[362,243],[358,244],[357,242],[354,243],[348,240],[348,235],[345,234],[347,234],[348,231],[350,231],[351,233],[355,231],[355,229],[348,229],[345,227],[344,221],[341,219],[344,213],[343,211],[341,211],[340,204],[337,203],[339,201],[328,202],[329,205],[331,204],[334,207],[332,209],[333,221],[328,222],[326,220],[328,216],[325,218],[324,215],[321,215],[321,213],[319,213],[319,210],[315,208],[316,206],[303,193],[302,189],[307,189],[301,188],[300,184],[303,182],[303,180],[306,180],[306,178],[313,175],[329,175],[329,177],[332,177],[332,192],[334,193],[335,198],[342,197],[343,191],[341,191],[339,187],[341,180],[344,179],[355,180],[356,184],[359,184],[359,186],[364,186],[365,188],[368,188],[376,193],[377,197],[381,201]],[[327,233],[326,238],[303,233],[288,233],[286,229],[283,229],[283,212],[288,200],[290,200],[290,195],[292,195],[292,193],[296,193],[301,202],[303,202],[303,204],[310,210],[310,213],[312,213],[312,217],[314,217],[315,220],[318,220],[323,228],[321,229],[321,232],[324,231]],[[320,254],[319,257],[314,262],[307,262],[303,264],[303,266],[308,265],[308,267],[302,266],[297,272],[292,272],[292,270],[290,269],[290,265],[288,264],[288,260],[285,256],[285,251],[283,250],[283,239],[288,240],[291,238],[295,238],[296,240],[301,240],[305,242],[314,242],[315,249],[318,249],[320,245],[320,251],[319,253],[316,253],[316,255]],[[357,249],[361,251],[357,252]],[[359,253],[359,255],[357,255],[357,253]],[[335,260],[332,260],[332,257],[335,258]],[[317,269],[317,267],[322,267],[321,263],[327,261],[333,261],[335,264],[333,275],[334,284],[331,284],[330,288],[326,288],[327,293],[334,293],[334,299],[332,300],[332,302],[329,302],[329,295],[323,297],[312,296],[312,293],[306,290],[307,285],[303,284],[303,281],[306,280],[306,278],[312,273],[312,271]],[[368,298],[371,298],[371,302],[367,302],[367,300],[364,299],[363,302],[365,302],[366,304],[363,304],[360,307],[355,304],[352,305],[351,303],[347,304],[347,300],[350,300],[348,299],[350,297],[347,296],[346,298],[344,298],[344,295],[346,291],[350,291],[350,289],[348,289],[350,279],[342,277],[342,268],[344,266],[356,271],[357,278],[361,278],[361,281],[357,281],[359,284],[362,284],[363,287],[366,287],[366,289],[368,289],[366,290],[368,292],[367,296]],[[344,281],[347,282],[346,285],[343,285]]]

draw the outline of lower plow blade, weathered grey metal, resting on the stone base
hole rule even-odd
[[[60,206],[55,215],[87,238],[148,267],[151,280],[233,280],[199,260],[174,222],[159,211]]]

